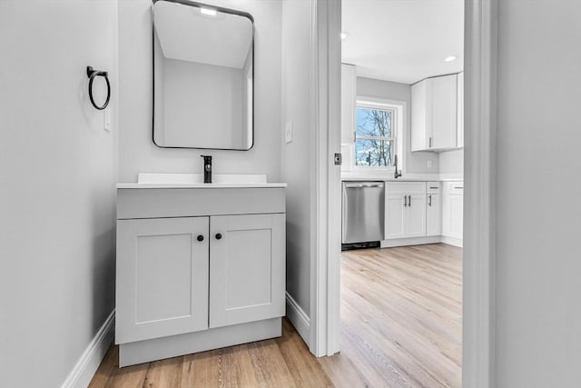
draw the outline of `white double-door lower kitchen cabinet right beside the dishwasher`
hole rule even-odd
[[[386,182],[385,239],[426,235],[426,183]]]

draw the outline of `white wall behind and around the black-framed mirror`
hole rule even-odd
[[[214,174],[281,172],[281,2],[209,0],[249,12],[255,22],[254,146],[250,151],[163,149],[152,141],[151,0],[119,0],[120,182],[142,172],[202,173],[200,154],[212,154]]]

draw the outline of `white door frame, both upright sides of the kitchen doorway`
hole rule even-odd
[[[313,235],[310,350],[339,352],[340,171],[332,154],[340,142],[340,1],[312,4]],[[495,382],[495,144],[497,131],[497,0],[465,3],[464,259],[462,385]],[[337,36],[337,37],[335,37]],[[339,144],[340,148],[340,144]],[[339,206],[338,206],[339,204]]]

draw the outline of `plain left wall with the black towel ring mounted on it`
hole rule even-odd
[[[55,387],[113,311],[116,1],[4,0],[0,52],[0,385]]]

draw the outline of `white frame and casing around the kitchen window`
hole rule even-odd
[[[391,129],[392,136],[358,136],[357,134],[357,109],[375,109],[375,110],[389,110],[393,112],[392,124],[393,127]],[[398,169],[403,170],[403,166],[405,164],[405,154],[403,153],[403,143],[404,143],[404,125],[406,123],[406,102],[404,101],[396,101],[396,100],[388,100],[388,99],[380,99],[374,98],[369,96],[362,96],[357,95],[355,97],[355,114],[353,117],[353,124],[354,124],[354,131],[353,131],[353,143],[351,146],[351,157],[350,157],[350,165],[351,171],[354,173],[364,173],[364,172],[376,172],[376,173],[393,173],[395,171],[395,166],[367,166],[367,165],[357,165],[357,154],[355,150],[355,144],[357,139],[377,139],[377,140],[386,140],[386,141],[393,141],[393,152],[394,156],[398,155]],[[393,159],[392,159],[393,163]]]

